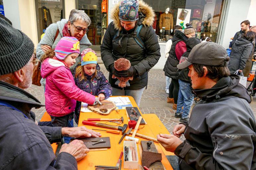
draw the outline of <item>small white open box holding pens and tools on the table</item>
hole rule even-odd
[[[133,147],[135,148],[135,158],[136,161],[123,161],[124,162],[124,169],[138,169],[138,162],[139,162],[139,158],[138,158],[138,151],[137,151],[137,145],[135,141],[124,141],[124,147]],[[124,149],[124,148],[123,148]],[[123,151],[124,154],[124,159],[125,159],[125,150]]]

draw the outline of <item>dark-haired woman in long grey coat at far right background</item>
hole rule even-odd
[[[228,63],[230,73],[235,73],[237,70],[239,73],[243,71],[246,61],[252,53],[252,41],[254,38],[255,33],[253,31],[247,31],[235,41],[230,53],[230,61]]]

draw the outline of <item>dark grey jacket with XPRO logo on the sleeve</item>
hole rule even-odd
[[[256,122],[251,98],[238,82],[232,74],[210,89],[193,90],[202,100],[174,152],[181,170],[256,169]]]

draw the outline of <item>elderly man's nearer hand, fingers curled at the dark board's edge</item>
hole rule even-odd
[[[88,152],[90,152],[90,149],[86,148],[83,141],[74,140],[69,144],[63,144],[59,153],[61,152],[70,153],[76,158],[77,161],[79,161],[80,159],[83,159]]]

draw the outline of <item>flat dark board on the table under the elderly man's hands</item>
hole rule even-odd
[[[78,140],[81,140],[84,142],[85,146],[89,149],[98,149],[98,148],[110,148],[110,139],[109,137],[96,137],[96,138],[76,138]],[[99,141],[100,139],[103,139],[104,143],[97,143],[95,145],[92,145],[95,142],[92,141]],[[71,139],[71,141],[74,139]]]

